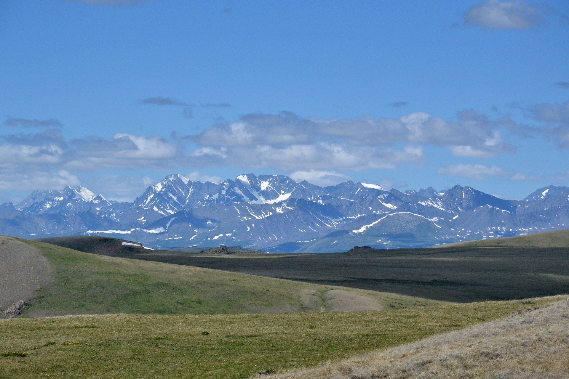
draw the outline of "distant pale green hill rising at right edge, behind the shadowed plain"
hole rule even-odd
[[[435,247],[569,247],[569,229],[525,236],[456,242]]]

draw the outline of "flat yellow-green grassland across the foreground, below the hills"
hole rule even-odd
[[[259,370],[310,368],[411,343],[560,299],[357,313],[2,320],[0,353],[30,355],[0,355],[0,377],[245,378]]]

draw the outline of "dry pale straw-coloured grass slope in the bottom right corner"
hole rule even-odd
[[[569,378],[569,299],[281,379]]]

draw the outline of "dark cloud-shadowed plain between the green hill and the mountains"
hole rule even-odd
[[[569,292],[569,248],[366,249],[329,254],[218,257],[146,251],[129,257],[451,302]]]

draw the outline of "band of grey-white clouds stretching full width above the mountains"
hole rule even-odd
[[[175,98],[144,101],[187,105]],[[278,170],[291,173],[294,180],[325,186],[350,180],[352,177],[343,173],[346,171],[420,165],[426,161],[426,145],[446,148],[457,157],[486,158],[515,153],[516,149],[502,135],[518,134],[555,138],[561,141],[560,148],[569,148],[569,102],[544,103],[524,111],[546,125],[521,127],[510,119],[493,120],[471,109],[457,113],[455,121],[423,112],[378,119],[254,113],[233,123],[215,123],[198,134],[171,138],[117,133],[110,139],[86,136],[66,140],[59,128],[51,128],[2,137],[0,189],[61,188],[76,185],[78,173],[108,169],[187,170],[192,180],[218,182],[221,178],[203,176],[197,171],[212,166]],[[534,178],[484,165],[451,165],[439,168],[437,173],[477,180]],[[130,196],[119,193],[119,189],[116,192],[118,197]]]

